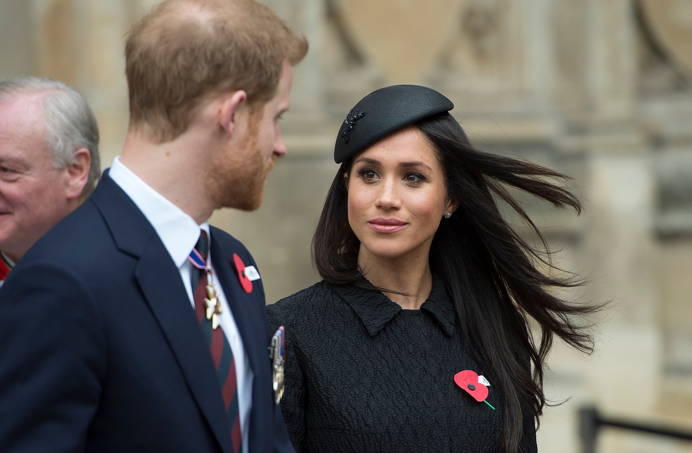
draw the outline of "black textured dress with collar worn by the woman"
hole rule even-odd
[[[298,453],[498,451],[500,396],[491,381],[493,410],[455,384],[459,371],[485,370],[468,355],[439,279],[419,310],[321,281],[267,313],[272,329],[286,328],[281,405]],[[520,451],[532,453],[528,425]]]

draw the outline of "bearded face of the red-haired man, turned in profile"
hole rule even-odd
[[[217,207],[252,211],[262,204],[266,176],[275,160],[286,154],[279,119],[289,109],[292,84],[291,64],[286,61],[274,98],[249,115],[235,146],[210,159],[208,192]]]

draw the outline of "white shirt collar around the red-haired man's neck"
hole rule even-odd
[[[197,225],[191,216],[125,167],[120,162],[120,156],[113,159],[108,176],[120,186],[152,224],[176,266],[183,266],[192,248],[197,244],[199,232],[205,230],[209,234],[209,224],[204,222]]]

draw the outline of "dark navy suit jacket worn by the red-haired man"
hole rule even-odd
[[[274,405],[260,280],[246,293],[211,228],[212,266],[248,353],[249,451],[293,453]],[[211,354],[178,268],[107,172],[0,289],[0,452],[232,452]]]

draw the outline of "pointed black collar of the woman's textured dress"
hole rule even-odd
[[[330,286],[353,308],[370,336],[379,333],[385,324],[403,310],[399,304],[379,291],[363,289],[354,284]],[[421,310],[430,313],[446,335],[453,335],[456,320],[454,305],[444,283],[435,275],[432,276],[430,296],[421,305]]]

